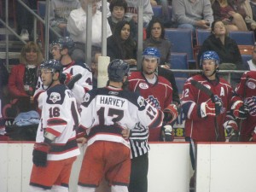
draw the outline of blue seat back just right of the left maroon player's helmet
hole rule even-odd
[[[171,69],[189,69],[188,58],[186,53],[171,53]],[[174,72],[176,78],[188,78],[188,73]]]

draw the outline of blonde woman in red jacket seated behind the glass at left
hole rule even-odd
[[[12,67],[8,88],[12,98],[18,99],[20,112],[36,109],[33,94],[38,82],[37,67],[44,60],[38,44],[28,42],[21,49],[20,64]]]

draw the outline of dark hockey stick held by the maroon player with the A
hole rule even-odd
[[[214,100],[214,94],[212,93],[212,90],[209,90],[206,86],[202,85],[195,79],[190,80],[191,84],[195,86],[198,90],[203,91],[204,93],[207,94],[207,96],[210,96],[212,102],[215,102]],[[219,136],[219,130],[218,130],[218,123],[217,123],[217,117],[214,116],[214,128],[215,128],[215,136],[216,136],[216,141],[218,142],[218,136]]]

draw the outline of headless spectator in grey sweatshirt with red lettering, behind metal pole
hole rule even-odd
[[[138,6],[138,0],[125,0],[128,9],[125,15],[130,17],[132,20],[134,20],[135,23],[137,23],[137,6]],[[143,4],[143,26],[147,27],[149,21],[152,19],[152,16],[154,15],[152,6],[150,4],[150,0],[142,0]]]

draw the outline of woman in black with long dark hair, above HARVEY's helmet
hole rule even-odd
[[[130,23],[126,20],[117,23],[113,35],[107,39],[107,55],[110,61],[121,59],[131,67],[137,65],[137,47],[131,38],[130,29]]]

